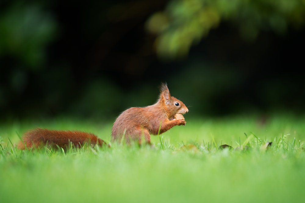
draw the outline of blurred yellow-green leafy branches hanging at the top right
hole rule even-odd
[[[254,40],[260,31],[285,34],[288,27],[304,25],[303,0],[172,0],[164,11],[146,23],[157,34],[160,58],[184,57],[209,31],[226,21],[236,25],[245,40]]]

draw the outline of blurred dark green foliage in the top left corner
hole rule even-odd
[[[45,60],[45,48],[56,37],[57,24],[40,5],[13,3],[0,14],[0,57],[11,56],[31,68]]]

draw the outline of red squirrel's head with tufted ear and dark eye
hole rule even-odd
[[[182,101],[170,96],[170,91],[167,88],[166,83],[161,84],[160,102],[165,105],[165,109],[169,117],[174,116],[174,114],[185,114],[188,112],[188,108]]]

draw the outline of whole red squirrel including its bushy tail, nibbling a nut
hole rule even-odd
[[[161,134],[175,125],[185,125],[186,121],[181,114],[188,112],[188,108],[180,100],[170,96],[167,84],[161,84],[159,100],[147,107],[132,107],[120,114],[112,127],[112,140],[130,143],[144,135],[150,144],[150,134]],[[159,130],[160,128],[160,130]],[[22,140],[17,144],[19,149],[32,149],[41,146],[61,147],[67,149],[70,143],[74,147],[81,147],[89,142],[91,146],[109,146],[105,141],[92,133],[83,131],[62,131],[36,128],[24,133]]]

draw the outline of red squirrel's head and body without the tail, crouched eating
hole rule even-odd
[[[141,144],[141,138],[150,144],[150,134],[159,135],[175,125],[185,125],[184,117],[175,116],[185,114],[188,108],[177,98],[170,96],[166,83],[161,83],[159,100],[147,107],[131,107],[123,111],[115,120],[111,139],[126,143],[131,140]]]

